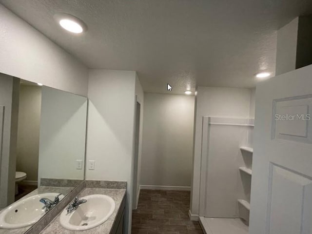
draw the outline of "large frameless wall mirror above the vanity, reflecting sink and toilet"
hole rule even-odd
[[[87,105],[0,74],[0,234],[26,232],[84,179]]]

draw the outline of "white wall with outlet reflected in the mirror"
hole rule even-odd
[[[42,87],[39,141],[40,178],[83,179],[87,98]]]

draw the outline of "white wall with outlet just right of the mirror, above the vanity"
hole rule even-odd
[[[85,178],[127,181],[125,227],[132,220],[135,89],[134,71],[89,70]],[[95,160],[95,170],[88,170],[89,160]]]

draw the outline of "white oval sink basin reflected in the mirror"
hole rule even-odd
[[[0,228],[14,229],[27,227],[36,223],[44,214],[42,197],[54,200],[58,193],[39,194],[14,202],[0,213]],[[60,195],[59,199],[64,196]]]

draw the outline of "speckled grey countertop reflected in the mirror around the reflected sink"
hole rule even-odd
[[[47,186],[41,186],[38,189],[35,189],[34,191],[30,192],[29,194],[23,196],[20,199],[25,199],[27,197],[31,197],[31,196],[39,195],[39,194],[45,194],[45,193],[60,193],[60,194],[63,194],[63,195],[67,195],[73,189],[74,188],[72,188],[72,187],[50,187],[50,186],[47,187]],[[30,227],[31,226],[27,226],[27,227],[23,227],[23,228],[17,228],[17,229],[0,229],[0,234],[24,234]]]

